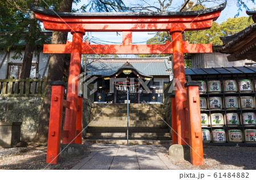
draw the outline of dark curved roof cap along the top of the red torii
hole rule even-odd
[[[210,12],[224,10],[226,2],[221,5],[207,8],[199,11],[181,11],[181,12],[55,12],[51,10],[45,10],[40,7],[31,5],[30,9],[34,12],[53,16],[192,16],[203,15]]]

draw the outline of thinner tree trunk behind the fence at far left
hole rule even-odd
[[[35,12],[31,11],[30,19],[31,20],[35,19]],[[32,36],[32,33],[31,33],[32,28],[36,28],[34,23],[30,24],[30,29],[28,30],[28,34],[30,37]],[[31,42],[30,40],[28,40],[25,46],[20,79],[30,78],[33,52],[34,52],[34,42]]]

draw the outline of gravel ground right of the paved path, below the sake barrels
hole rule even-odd
[[[162,145],[168,152],[170,145]],[[204,166],[193,166],[186,160],[171,160],[179,169],[221,169],[250,170],[256,169],[256,147],[232,147],[204,145]]]

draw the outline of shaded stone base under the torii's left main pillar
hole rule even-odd
[[[81,144],[61,144],[60,152],[61,158],[79,157],[84,155],[84,148]]]

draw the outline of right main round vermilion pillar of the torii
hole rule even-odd
[[[173,63],[174,63],[174,81],[175,81],[175,106],[176,106],[176,121],[177,121],[177,142],[178,144],[186,145],[188,142],[185,138],[185,132],[188,132],[186,110],[183,107],[183,102],[187,101],[187,93],[185,91],[185,66],[183,55],[183,28],[172,28],[173,46]]]

